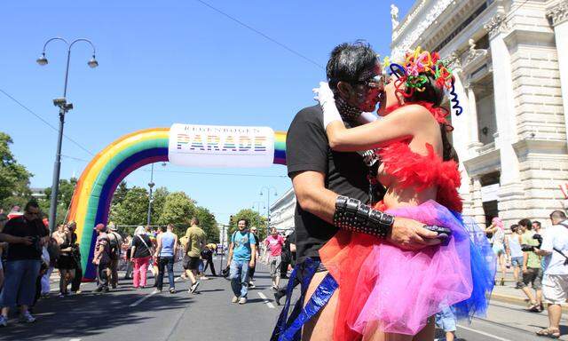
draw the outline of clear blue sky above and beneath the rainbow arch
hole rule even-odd
[[[82,3],[82,4],[79,4]],[[400,18],[414,1],[398,0]],[[38,5],[41,4],[41,5]],[[49,5],[48,5],[49,4]],[[306,60],[244,28],[207,4]],[[48,46],[50,63],[40,67],[43,43],[51,36],[86,37],[97,47],[72,51],[66,135],[92,155],[114,139],[172,123],[269,126],[286,131],[296,112],[311,106],[312,87],[336,44],[365,39],[381,55],[390,52],[390,2],[336,0],[267,1],[49,1],[0,5],[0,90],[18,99],[53,126],[62,95],[65,47]],[[51,186],[57,133],[0,93],[0,131],[12,136],[12,151],[34,173],[32,186]],[[79,177],[92,155],[64,139],[61,178]],[[149,165],[126,178],[146,186]],[[291,183],[286,168],[197,169],[168,164],[154,172],[157,186],[183,190],[226,221],[249,208],[263,186],[283,194]],[[257,174],[218,176],[194,172]],[[271,200],[275,199],[272,196]],[[262,207],[261,207],[262,209]],[[144,218],[141,218],[141,221]]]

